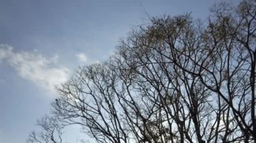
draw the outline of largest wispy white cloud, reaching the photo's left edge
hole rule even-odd
[[[69,70],[56,65],[58,57],[57,54],[46,58],[35,52],[15,52],[11,46],[0,44],[0,62],[6,61],[22,78],[51,91],[68,78]]]

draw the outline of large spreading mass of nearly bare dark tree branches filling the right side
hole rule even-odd
[[[256,142],[256,1],[151,21],[59,87],[55,118],[96,142]]]

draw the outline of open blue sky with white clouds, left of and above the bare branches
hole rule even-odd
[[[148,23],[146,11],[151,16],[192,12],[205,20],[219,2],[1,0],[0,143],[26,142],[36,120],[50,112],[54,85],[79,65],[106,60],[131,28]],[[67,140],[75,138],[82,139],[71,132]]]

